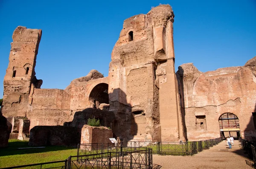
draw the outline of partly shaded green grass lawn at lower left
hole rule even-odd
[[[10,139],[6,148],[0,148],[0,168],[33,163],[61,161],[76,155],[77,148],[67,146],[46,146],[38,149],[17,149],[31,147],[28,141]]]

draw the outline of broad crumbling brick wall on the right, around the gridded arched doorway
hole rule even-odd
[[[252,112],[256,110],[256,77],[253,71],[249,63],[206,73],[191,63],[179,67],[176,74],[189,140],[219,137],[218,119],[224,113],[233,113],[239,118],[243,138],[255,136]],[[204,129],[197,127],[198,116],[206,118]]]

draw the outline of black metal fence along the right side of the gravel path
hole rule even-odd
[[[253,167],[256,168],[256,151],[255,151],[255,144],[253,141],[248,141],[245,139],[239,139],[241,142],[241,146],[247,152],[251,159],[253,159]]]

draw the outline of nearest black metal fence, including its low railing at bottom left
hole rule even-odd
[[[4,169],[152,169],[152,149],[121,147],[121,151],[70,156],[64,161],[37,163]]]

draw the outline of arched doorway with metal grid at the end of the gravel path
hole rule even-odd
[[[239,119],[233,113],[224,113],[218,119],[221,138],[227,138],[227,136],[233,136],[234,139],[240,137],[240,125]]]

